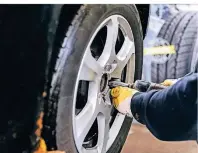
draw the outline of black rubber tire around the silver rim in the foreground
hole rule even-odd
[[[74,17],[64,38],[52,79],[53,92],[59,95],[56,142],[60,150],[77,153],[72,128],[72,107],[77,74],[88,44],[97,26],[108,16],[119,14],[131,25],[135,40],[135,79],[142,75],[143,36],[134,5],[83,5]],[[57,90],[58,89],[58,90]],[[125,118],[121,130],[108,153],[119,153],[127,138],[132,120]]]

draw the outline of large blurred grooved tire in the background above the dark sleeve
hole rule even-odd
[[[163,25],[158,38],[175,46],[176,54],[162,64],[152,62],[151,80],[163,82],[176,79],[190,72],[194,43],[197,36],[197,13],[180,12],[170,17]]]

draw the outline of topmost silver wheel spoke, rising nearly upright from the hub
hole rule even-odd
[[[116,56],[115,44],[118,37],[119,22],[117,16],[110,19],[107,24],[107,38],[102,55],[98,59],[98,62],[104,66],[107,62],[112,62]]]

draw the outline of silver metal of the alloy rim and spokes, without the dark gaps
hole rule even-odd
[[[91,43],[96,34],[104,26],[107,27],[107,37],[103,52],[98,60],[91,54]],[[115,53],[115,44],[118,36],[118,29],[124,35],[124,43],[120,51]],[[127,64],[128,63],[128,64]],[[105,90],[106,100],[102,98],[104,93],[100,91],[100,82],[103,74],[108,78],[121,78],[122,70],[127,64],[126,82],[133,82],[135,68],[135,45],[131,27],[127,20],[121,15],[112,15],[105,19],[95,30],[91,37],[82,63],[79,69],[74,95],[73,105],[73,134],[76,147],[79,153],[104,153],[113,144],[122,126],[125,116],[118,113],[111,128],[109,129],[110,112],[112,105],[109,99],[109,89]],[[106,68],[108,66],[108,69]],[[78,82],[89,81],[88,99],[82,111],[76,115],[76,97]],[[84,148],[83,141],[93,125],[95,119],[98,123],[98,141],[94,148]]]

